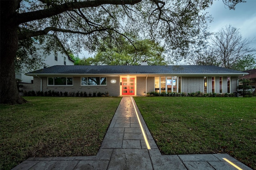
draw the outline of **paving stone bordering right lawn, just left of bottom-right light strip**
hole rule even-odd
[[[212,154],[179,154],[182,161],[219,161]]]

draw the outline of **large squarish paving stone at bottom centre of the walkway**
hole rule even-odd
[[[108,170],[152,170],[147,149],[114,149]]]

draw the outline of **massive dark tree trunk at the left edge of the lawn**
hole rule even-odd
[[[1,104],[22,104],[26,102],[26,100],[20,97],[15,80],[14,59],[18,50],[18,25],[9,23],[17,5],[17,1],[1,1]]]

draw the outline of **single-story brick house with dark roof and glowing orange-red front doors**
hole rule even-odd
[[[110,96],[145,96],[147,92],[236,92],[246,72],[218,66],[81,66],[57,65],[26,73],[34,84],[24,90],[108,92]]]

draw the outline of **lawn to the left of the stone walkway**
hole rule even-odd
[[[24,97],[0,107],[0,169],[28,157],[96,155],[121,98]]]

